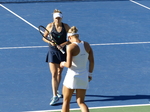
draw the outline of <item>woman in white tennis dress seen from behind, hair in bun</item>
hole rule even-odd
[[[60,66],[67,67],[67,74],[63,82],[63,106],[62,112],[69,112],[70,100],[74,90],[76,90],[76,99],[82,112],[89,112],[84,103],[86,89],[88,89],[89,80],[92,80],[94,69],[94,56],[89,43],[81,41],[75,26],[68,31],[68,39],[71,42],[67,46],[66,62],[61,62]],[[89,62],[88,69],[86,68]]]

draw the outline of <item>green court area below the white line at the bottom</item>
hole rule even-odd
[[[45,111],[45,112],[61,112],[61,111]],[[81,110],[71,110],[70,112],[81,112]],[[139,106],[122,106],[122,107],[100,107],[91,108],[90,112],[150,112],[150,105]]]

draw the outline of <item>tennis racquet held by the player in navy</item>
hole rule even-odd
[[[51,36],[51,34],[49,33],[49,31],[42,25],[39,26],[39,32],[40,34],[42,35],[42,37],[44,37],[46,40],[54,43],[56,46],[59,46],[57,43],[56,43],[56,40]],[[47,36],[45,36],[47,35]],[[65,51],[63,51],[63,49],[59,49],[63,54],[65,54]]]

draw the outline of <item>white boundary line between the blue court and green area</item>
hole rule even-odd
[[[103,106],[103,107],[90,107],[89,109],[100,109],[100,108],[121,108],[121,107],[139,107],[139,106],[150,106],[150,104],[138,104],[138,105],[118,105],[118,106]],[[80,108],[74,108],[70,110],[80,110]],[[23,111],[23,112],[56,112],[58,110],[40,110],[40,111]]]

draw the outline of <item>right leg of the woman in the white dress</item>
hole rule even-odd
[[[81,108],[82,112],[89,112],[87,105],[84,103],[86,90],[85,89],[77,89],[76,90],[76,99],[79,107]]]

